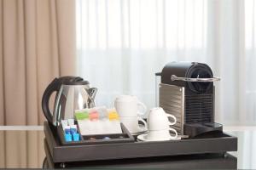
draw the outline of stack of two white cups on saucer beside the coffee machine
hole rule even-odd
[[[168,117],[172,117],[173,122],[169,122]],[[148,139],[177,139],[177,131],[169,127],[177,122],[176,117],[167,114],[161,107],[155,107],[148,113]],[[170,134],[172,131],[175,135]]]

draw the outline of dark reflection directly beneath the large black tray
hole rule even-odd
[[[72,161],[55,163],[44,139],[45,159],[43,169],[236,169],[237,159],[228,153],[196,154],[188,156],[158,156],[103,161]]]

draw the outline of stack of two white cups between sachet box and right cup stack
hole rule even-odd
[[[147,107],[140,102],[136,96],[120,95],[114,100],[114,107],[119,113],[120,122],[123,122],[130,133],[141,133],[147,130],[147,122],[143,116]],[[140,127],[138,122],[143,122],[144,127]]]

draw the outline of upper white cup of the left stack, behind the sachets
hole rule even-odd
[[[132,95],[120,95],[114,100],[114,107],[120,117],[142,116],[147,111],[146,105]]]

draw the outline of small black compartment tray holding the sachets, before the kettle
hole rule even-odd
[[[96,134],[96,135],[81,135],[79,141],[66,142],[64,139],[64,132],[60,126],[57,127],[58,136],[61,142],[61,145],[84,145],[84,144],[110,144],[110,143],[125,143],[125,142],[134,142],[134,138],[126,129],[125,125],[121,123],[121,128],[123,133],[112,133],[112,134]],[[110,139],[102,139],[108,136]],[[95,138],[95,140],[89,140],[90,137]],[[122,138],[119,138],[122,137]]]

